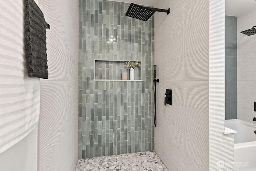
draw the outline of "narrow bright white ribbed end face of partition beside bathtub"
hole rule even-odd
[[[209,170],[234,170],[234,135],[224,135],[225,1],[210,0],[209,48]],[[224,162],[218,167],[218,162]]]

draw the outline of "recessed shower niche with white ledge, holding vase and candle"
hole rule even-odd
[[[134,68],[135,79],[129,80],[130,68],[125,66],[128,60],[94,60],[94,80],[93,81],[133,81],[142,82],[141,69]],[[130,60],[130,62],[134,62]],[[138,61],[141,63],[140,61]],[[128,73],[128,80],[122,80],[122,72]]]

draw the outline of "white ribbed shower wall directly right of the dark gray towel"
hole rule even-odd
[[[40,0],[49,79],[41,79],[39,171],[72,171],[78,160],[78,0]]]

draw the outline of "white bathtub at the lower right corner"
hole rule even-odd
[[[234,134],[235,171],[256,171],[256,124],[231,119],[225,127],[237,131]]]

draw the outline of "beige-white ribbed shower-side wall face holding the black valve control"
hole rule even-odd
[[[202,16],[196,15],[193,8],[207,9],[208,4],[183,0],[168,2],[160,0],[156,6],[170,7],[168,16],[155,13],[155,64],[160,79],[155,149],[170,170],[207,170],[208,15],[204,10],[199,10]],[[194,21],[203,20],[197,23],[200,26],[194,28],[196,23],[191,22],[189,14]],[[172,89],[172,106],[164,105],[166,89]],[[198,124],[192,123],[194,121]],[[196,146],[191,144],[191,137],[206,150],[192,153]]]

